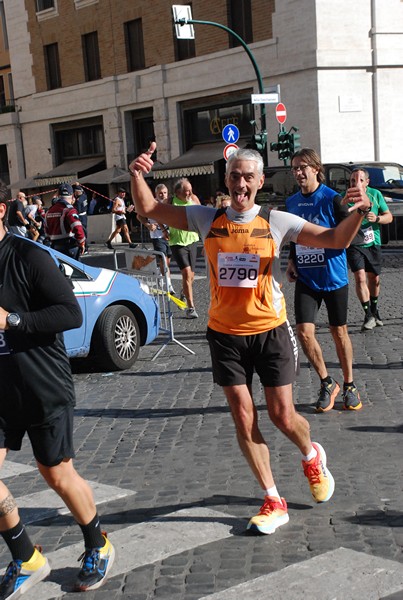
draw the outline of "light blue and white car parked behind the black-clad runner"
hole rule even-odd
[[[108,371],[130,368],[140,347],[150,344],[159,332],[158,303],[147,293],[147,286],[130,275],[86,265],[41,247],[71,281],[83,313],[81,327],[64,333],[68,356],[92,358]]]

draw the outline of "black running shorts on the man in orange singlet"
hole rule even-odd
[[[213,378],[220,386],[252,383],[253,371],[264,387],[280,387],[295,381],[297,340],[288,323],[256,335],[228,335],[207,329]]]

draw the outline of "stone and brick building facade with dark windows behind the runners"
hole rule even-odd
[[[193,0],[192,11],[245,36],[303,146],[326,162],[403,162],[402,0]],[[0,146],[13,192],[76,178],[80,161],[126,168],[155,135],[156,175],[185,156],[178,168],[207,194],[222,185],[222,127],[237,123],[241,144],[260,127],[245,49],[205,24],[178,42],[165,0],[4,0],[4,12],[16,111],[0,114]],[[270,143],[279,125],[275,104],[265,109]]]

